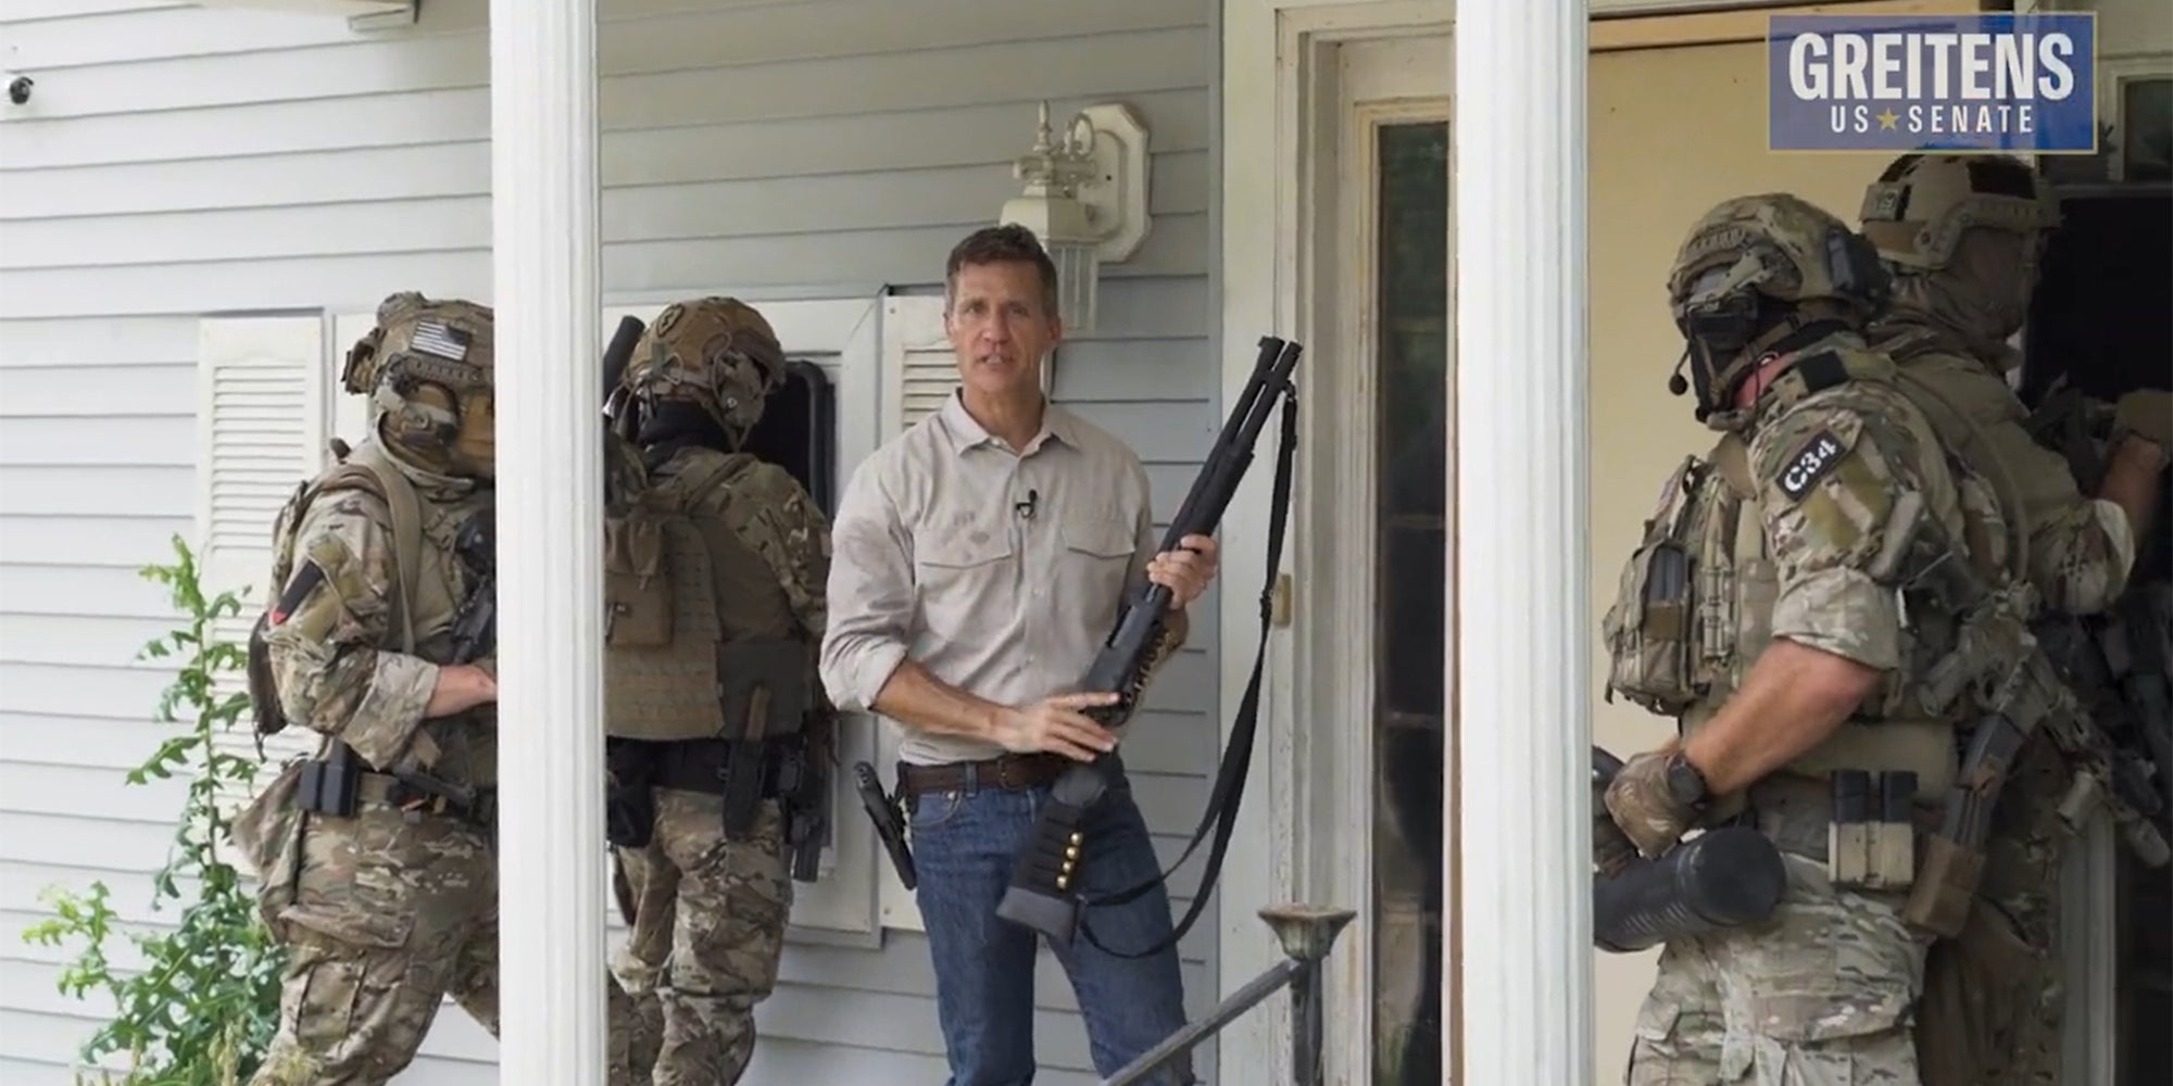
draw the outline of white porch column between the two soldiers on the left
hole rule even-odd
[[[604,1082],[595,0],[491,0],[500,1079]]]

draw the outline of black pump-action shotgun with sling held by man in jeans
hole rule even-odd
[[[1278,550],[1282,543],[1282,504],[1289,491],[1289,458],[1297,439],[1297,415],[1295,415],[1295,387],[1291,384],[1291,371],[1297,367],[1297,356],[1304,352],[1302,345],[1289,343],[1276,337],[1260,337],[1260,354],[1254,361],[1252,378],[1245,382],[1245,391],[1239,393],[1239,402],[1230,408],[1230,419],[1223,421],[1221,432],[1215,437],[1215,445],[1208,452],[1208,460],[1199,467],[1199,476],[1193,478],[1191,493],[1184,495],[1184,504],[1178,506],[1176,517],[1169,521],[1169,532],[1163,534],[1163,550],[1176,550],[1180,541],[1189,534],[1208,534],[1221,523],[1223,508],[1230,506],[1230,497],[1236,493],[1239,480],[1245,478],[1245,469],[1252,467],[1252,445],[1260,434],[1260,426],[1267,424],[1267,413],[1282,400],[1282,450],[1276,465],[1276,510],[1269,539],[1269,560],[1267,576],[1273,584]],[[1263,652],[1267,643],[1267,593],[1263,591]],[[1139,706],[1139,693],[1145,689],[1154,671],[1176,652],[1176,639],[1169,636],[1167,628],[1169,615],[1169,589],[1160,584],[1147,584],[1136,599],[1126,606],[1119,615],[1117,626],[1102,641],[1102,652],[1095,654],[1093,665],[1086,667],[1086,675],[1080,680],[1080,691],[1115,693],[1117,704],[1086,708],[1086,717],[1104,728],[1115,728],[1132,717]],[[1241,708],[1243,717],[1249,717],[1258,702],[1258,660],[1254,662],[1254,689],[1247,691],[1247,706]],[[1208,815],[1202,819],[1199,830],[1193,834],[1191,847],[1178,858],[1184,862],[1199,847],[1206,836],[1210,821],[1219,821],[1215,851],[1208,860],[1208,873],[1202,880],[1199,893],[1193,899],[1191,914],[1171,932],[1169,940],[1176,943],[1199,917],[1199,908],[1208,899],[1208,888],[1215,882],[1215,873],[1221,867],[1221,854],[1228,845],[1230,830],[1236,825],[1236,797],[1243,788],[1245,769],[1252,754],[1252,721],[1245,719],[1232,732],[1230,749],[1223,754],[1223,767],[1215,782],[1215,795],[1208,799]],[[1117,769],[1117,754],[1104,752],[1095,756],[1093,762],[1073,762],[1056,778],[1050,788],[1050,801],[1043,804],[1041,817],[1034,823],[1034,836],[1019,851],[1013,873],[1010,888],[1004,891],[1004,899],[995,906],[995,914],[1041,932],[1050,936],[1052,943],[1071,943],[1073,932],[1080,927],[1082,912],[1086,908],[1084,895],[1069,895],[1073,888],[1080,862],[1086,851],[1084,832],[1080,821],[1086,810],[1093,808],[1102,795],[1108,791],[1108,775]],[[1097,899],[1093,904],[1121,904],[1139,897],[1141,893],[1154,888],[1158,882],[1167,880],[1163,873],[1156,880],[1132,886],[1130,891]],[[1093,940],[1093,932],[1086,934]],[[1100,947],[1100,940],[1095,940]],[[1108,947],[1102,947],[1108,951]],[[1158,951],[1150,949],[1147,954]],[[1117,954],[1117,951],[1108,951]],[[1139,958],[1139,956],[1130,956]]]

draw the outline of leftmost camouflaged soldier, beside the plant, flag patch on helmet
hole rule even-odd
[[[254,1086],[382,1084],[445,995],[498,1032],[491,348],[487,306],[387,298],[343,374],[372,434],[274,528],[259,730],[324,741],[235,828],[289,958]]]

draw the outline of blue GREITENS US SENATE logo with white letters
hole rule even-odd
[[[1773,15],[1773,150],[2097,150],[2097,17]]]

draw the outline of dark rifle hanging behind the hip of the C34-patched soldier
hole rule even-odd
[[[1923,497],[1901,495],[1895,536],[1908,539],[1923,517]],[[1927,582],[1934,595],[1960,604],[1954,649],[1925,675],[1921,706],[1945,715],[1967,695],[1980,717],[1969,732],[1945,817],[1925,841],[1923,869],[1901,917],[1947,938],[1962,932],[1984,875],[1993,808],[2023,743],[2038,732],[2058,747],[2073,773],[2058,808],[2064,830],[2080,832],[2101,804],[2145,864],[2164,864],[2164,836],[2136,810],[2112,745],[2075,702],[2030,628],[2036,591],[2025,580],[1986,582],[1954,547],[1934,554],[1910,580]]]

